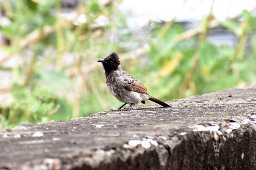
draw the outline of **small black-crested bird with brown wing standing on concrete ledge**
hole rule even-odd
[[[105,59],[98,60],[103,64],[105,70],[106,84],[110,92],[124,104],[117,110],[129,110],[140,102],[146,104],[145,100],[151,100],[163,107],[171,107],[153,96],[148,94],[147,88],[133,76],[123,71],[117,53],[113,52]],[[122,109],[126,104],[130,104]]]

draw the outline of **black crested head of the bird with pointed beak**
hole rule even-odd
[[[106,72],[117,70],[118,66],[120,65],[119,57],[116,53],[112,53],[105,59],[98,60],[98,62],[103,64],[104,70]]]

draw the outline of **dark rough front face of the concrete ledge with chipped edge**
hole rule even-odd
[[[2,167],[2,169],[16,167],[22,170],[30,170],[31,168],[35,170],[120,170],[134,168],[166,170],[205,169],[205,164],[212,169],[256,169],[256,121],[251,117],[243,116],[236,117],[236,119],[236,122],[220,122],[221,127],[218,130],[216,130],[216,124],[212,126],[199,125],[194,129],[190,127],[190,131],[180,132],[172,137],[161,135],[142,137],[141,141],[146,141],[150,147],[141,143],[132,146],[127,141],[114,148],[98,149],[86,154],[80,152],[75,156],[70,155],[70,157],[64,158],[34,160],[34,162],[26,162],[22,166],[10,165]],[[234,123],[238,123],[240,126]],[[235,126],[232,127],[232,124]],[[240,140],[235,140],[237,138]],[[254,142],[244,141],[248,139]],[[227,143],[232,143],[234,147],[230,148],[230,144],[227,145]],[[252,150],[254,153],[249,155],[250,152],[243,150]],[[191,154],[191,151],[194,153]],[[190,153],[188,154],[188,152]],[[230,156],[234,155],[237,160],[229,159]],[[212,158],[215,160],[211,160]],[[230,160],[232,161],[230,162]]]

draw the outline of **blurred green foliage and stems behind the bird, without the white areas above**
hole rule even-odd
[[[11,21],[0,26],[11,41],[1,50],[9,57],[18,56],[11,69],[13,100],[0,106],[0,128],[118,108],[121,103],[108,91],[103,67],[96,62],[113,51],[120,55],[123,70],[164,101],[256,83],[256,17],[252,12],[244,11],[241,21],[219,22],[238,39],[236,47],[231,47],[216,46],[207,39],[207,25],[214,20],[211,14],[198,33],[187,36],[184,24],[175,22],[151,21],[131,30],[116,4],[102,6],[97,0],[81,1],[71,19],[60,17],[61,0],[0,5]],[[81,15],[86,22],[74,24]],[[100,16],[108,19],[107,24],[97,25]]]

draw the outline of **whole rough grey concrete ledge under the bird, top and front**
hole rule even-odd
[[[2,130],[0,169],[256,169],[256,86],[168,104]]]

